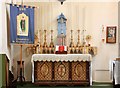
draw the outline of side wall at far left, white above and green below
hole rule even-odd
[[[7,31],[7,14],[6,14],[6,4],[4,0],[0,0],[0,54],[6,54],[8,59],[10,59],[10,46],[8,44],[8,31]],[[5,59],[0,55],[0,88],[5,86],[5,67],[3,65]]]

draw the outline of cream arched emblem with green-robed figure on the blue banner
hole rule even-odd
[[[28,36],[29,20],[26,14],[22,13],[17,16],[17,35]]]

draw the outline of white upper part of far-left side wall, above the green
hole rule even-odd
[[[6,54],[10,59],[10,45],[7,28],[7,13],[6,4],[4,0],[0,0],[0,54]]]

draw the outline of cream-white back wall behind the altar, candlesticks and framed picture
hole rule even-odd
[[[26,3],[28,4],[28,3]],[[29,3],[29,5],[33,5],[33,3]],[[39,8],[38,10],[38,17],[35,17],[36,19],[36,30],[39,28],[42,30],[47,29],[49,32],[50,29],[52,28],[54,30],[54,41],[56,43],[56,35],[57,35],[57,16],[60,15],[61,12],[64,13],[66,16],[67,20],[67,44],[69,45],[69,40],[70,40],[70,30],[74,30],[74,42],[76,44],[77,39],[76,33],[78,28],[82,31],[83,28],[85,28],[86,35],[90,34],[92,35],[92,41],[91,45],[92,46],[97,46],[98,48],[98,53],[96,56],[93,57],[92,60],[92,68],[93,68],[93,80],[95,81],[107,81],[110,82],[110,79],[104,78],[104,72],[102,70],[106,70],[105,76],[109,77],[109,60],[114,59],[118,57],[118,37],[117,37],[117,42],[115,44],[106,44],[105,42],[103,43],[101,41],[101,27],[104,25],[106,26],[118,25],[118,3],[114,2],[107,2],[107,3],[64,3],[63,6],[60,5],[60,3],[52,3],[52,12],[51,11],[51,4],[48,5],[48,3],[34,3],[34,5],[42,7]],[[45,7],[45,8],[44,8]],[[5,9],[3,6],[2,9]],[[46,10],[44,10],[46,9]],[[78,16],[78,10],[79,10],[79,17]],[[2,16],[5,16],[5,11],[2,14]],[[37,12],[36,12],[37,13]],[[42,14],[41,14],[42,13]],[[46,13],[46,14],[45,14]],[[52,13],[52,17],[50,14]],[[72,15],[71,15],[72,13]],[[85,15],[84,15],[85,14]],[[1,14],[0,14],[1,15]],[[37,16],[37,15],[36,15]],[[51,21],[52,18],[52,21]],[[78,24],[78,18],[79,18],[79,26],[76,25]],[[6,19],[6,18],[5,18]],[[3,18],[3,20],[5,20]],[[2,35],[6,36],[6,21],[2,21],[3,26],[2,30],[0,30],[0,33],[2,32]],[[52,23],[51,23],[52,22]],[[0,24],[1,25],[1,24]],[[47,25],[47,26],[42,26],[42,25]],[[52,26],[50,26],[52,25]],[[105,29],[106,30],[106,29]],[[4,32],[3,32],[4,31]],[[117,29],[118,31],[118,29]],[[117,32],[118,33],[118,32]],[[118,34],[117,34],[118,36]],[[47,42],[49,44],[50,40],[50,34],[48,33],[47,35]],[[82,38],[82,33],[81,33],[81,38]],[[82,39],[81,39],[82,40]],[[8,48],[6,46],[7,41],[1,41],[3,42],[3,45],[0,45],[3,47],[3,52],[8,52]],[[41,35],[41,42],[43,43],[43,34]],[[81,41],[82,42],[82,41]],[[17,61],[19,60],[19,47],[14,46],[14,57],[13,57],[13,71],[14,74],[16,75],[17,72]],[[1,51],[1,50],[0,50]],[[31,54],[27,55],[26,54],[26,49],[23,47],[23,60],[25,61],[25,78],[27,81],[31,81]],[[96,70],[101,70],[101,74],[97,75],[98,73]],[[99,76],[99,78],[98,78]],[[102,79],[100,79],[102,78]]]

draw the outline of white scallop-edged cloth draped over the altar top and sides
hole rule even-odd
[[[34,83],[34,61],[90,61],[90,85],[92,85],[92,56],[90,54],[33,54],[32,83]]]

